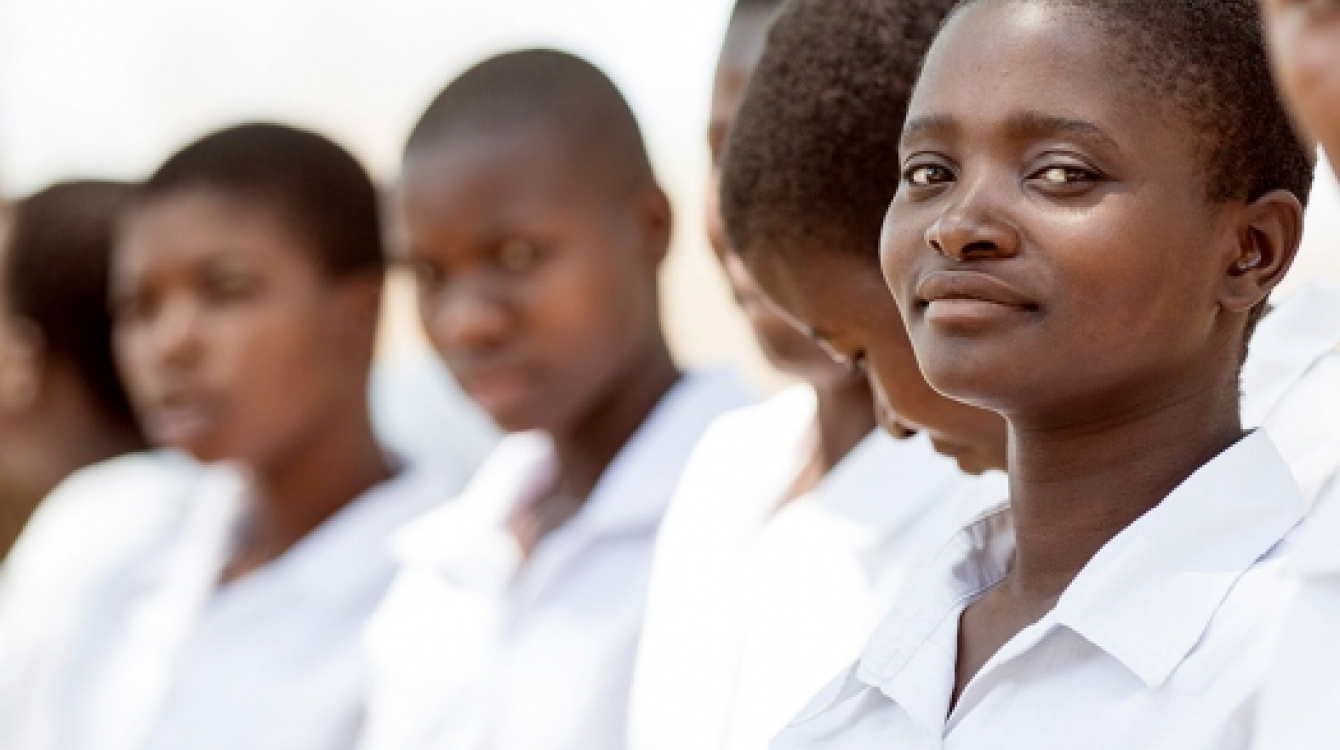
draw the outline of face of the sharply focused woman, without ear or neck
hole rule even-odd
[[[1106,48],[1071,13],[972,5],[910,104],[888,285],[930,383],[1012,419],[1119,419],[1235,372],[1242,229],[1190,126]]]

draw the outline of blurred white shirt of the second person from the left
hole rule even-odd
[[[362,627],[394,572],[394,529],[460,487],[405,470],[279,560],[220,587],[247,506],[241,471],[201,478],[169,544],[105,580],[56,700],[59,731],[7,750],[346,750],[363,711]]]

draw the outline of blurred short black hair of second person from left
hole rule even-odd
[[[192,190],[279,212],[334,279],[386,269],[377,188],[348,151],[315,133],[251,123],[206,135],[158,167],[139,202]]]

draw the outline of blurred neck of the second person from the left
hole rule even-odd
[[[350,502],[395,474],[362,399],[327,414],[299,441],[300,446],[249,466],[251,525],[225,581],[279,558]]]

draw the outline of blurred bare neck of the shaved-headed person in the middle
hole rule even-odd
[[[563,466],[559,492],[582,501],[588,498],[614,457],[678,380],[670,348],[658,333],[611,379],[610,392],[591,404],[586,419],[568,434],[555,435]]]

